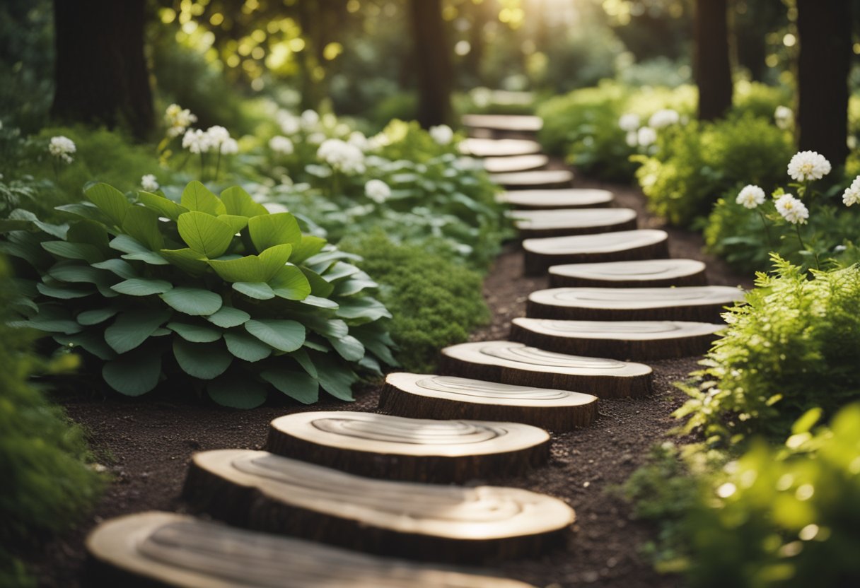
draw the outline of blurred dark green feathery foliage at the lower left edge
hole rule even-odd
[[[34,334],[6,325],[15,285],[0,263],[0,584],[24,585],[22,566],[11,554],[80,520],[103,480],[87,465],[83,430],[28,383],[34,371],[60,369],[64,362],[43,364],[31,352]]]

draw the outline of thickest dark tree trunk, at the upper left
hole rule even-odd
[[[155,125],[144,58],[144,0],[54,0],[57,49],[52,115],[127,126],[145,138]]]

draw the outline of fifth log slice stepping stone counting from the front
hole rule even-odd
[[[598,398],[651,393],[652,371],[648,365],[548,352],[514,341],[478,341],[445,347],[439,365],[440,371],[451,376],[571,390]]]

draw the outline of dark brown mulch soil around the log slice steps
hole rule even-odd
[[[643,211],[642,194],[630,187],[578,182],[578,187],[607,187],[619,205],[640,211],[641,228],[664,228]],[[751,286],[719,260],[703,256],[701,238],[667,229],[673,257],[705,260],[715,285]],[[545,278],[522,277],[522,254],[513,244],[497,260],[485,282],[485,297],[494,320],[472,340],[504,339],[511,319],[525,315],[525,297],[547,287]],[[631,517],[630,506],[615,489],[644,461],[648,448],[666,439],[677,425],[671,413],[683,402],[674,388],[697,367],[697,358],[651,364],[655,393],[641,400],[602,400],[599,419],[586,429],[556,435],[550,464],[523,478],[507,480],[563,499],[573,506],[577,522],[567,547],[539,560],[495,562],[493,569],[536,586],[668,587],[677,578],[660,576],[638,554],[654,536],[647,524]],[[76,588],[85,578],[84,537],[101,520],[148,511],[187,511],[180,497],[187,462],[195,451],[224,448],[259,449],[273,418],[297,410],[367,410],[378,401],[378,387],[359,390],[353,403],[323,402],[314,407],[266,406],[233,411],[210,403],[164,396],[142,400],[95,398],[85,393],[61,402],[73,420],[90,434],[94,450],[114,476],[95,511],[76,530],[48,542],[32,559],[40,585]]]

